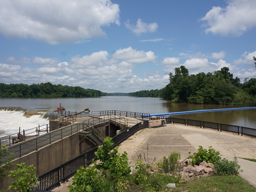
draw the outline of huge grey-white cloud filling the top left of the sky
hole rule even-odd
[[[119,25],[119,6],[110,0],[0,1],[0,33],[50,44],[106,36],[103,26]]]

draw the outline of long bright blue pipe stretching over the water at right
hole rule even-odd
[[[216,111],[229,111],[229,110],[248,110],[256,109],[256,107],[240,107],[240,108],[227,108],[227,109],[204,109],[204,110],[193,110],[193,111],[180,111],[171,113],[161,113],[161,114],[150,114],[149,116],[169,116],[169,115],[184,115],[193,113],[206,113],[206,112],[216,112]],[[148,116],[145,116],[148,117]]]

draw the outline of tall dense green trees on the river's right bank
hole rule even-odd
[[[214,73],[189,75],[185,66],[169,74],[170,83],[161,90],[130,93],[137,97],[160,97],[175,102],[256,106],[256,78],[234,78],[228,67]]]

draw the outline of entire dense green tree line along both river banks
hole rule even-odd
[[[256,61],[256,60],[255,60]],[[256,67],[256,63],[255,63]],[[170,83],[161,90],[143,90],[133,93],[103,93],[79,86],[41,84],[0,83],[0,98],[47,98],[47,97],[101,97],[106,95],[129,95],[134,97],[159,97],[175,102],[234,104],[256,106],[256,78],[245,79],[229,73],[228,67],[214,73],[189,75],[185,66],[174,69],[169,74]]]

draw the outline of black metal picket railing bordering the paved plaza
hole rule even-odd
[[[103,113],[103,114],[110,115],[110,112],[108,111],[108,112]],[[180,124],[185,124],[185,125],[194,125],[194,126],[200,126],[200,127],[207,127],[207,128],[215,129],[215,130],[218,130],[218,131],[225,130],[225,131],[238,132],[238,133],[241,133],[241,134],[256,136],[256,130],[251,129],[251,128],[247,128],[247,127],[239,127],[239,126],[236,126],[236,125],[227,125],[227,124],[219,124],[219,123],[214,123],[214,122],[198,121],[198,120],[193,120],[193,119],[182,119],[182,118],[173,118],[173,117],[159,117],[159,119],[162,119],[162,118],[165,118],[166,123],[169,123],[169,124],[170,123],[180,123]],[[106,120],[107,120],[107,118],[104,121],[106,121]],[[124,140],[126,140],[127,138],[129,138],[132,134],[134,134],[138,130],[148,127],[148,124],[149,124],[148,121],[141,122],[141,123],[138,123],[138,124],[130,127],[129,129],[126,129],[126,130],[122,131],[121,133],[115,135],[113,137],[113,141],[114,141],[113,147],[117,146],[119,143],[121,143]],[[84,154],[82,154],[82,155],[80,155],[80,156],[78,156],[74,159],[71,159],[67,163],[62,164],[61,166],[57,167],[57,169],[49,171],[47,173],[47,175],[49,175],[50,179],[53,178],[53,180],[55,182],[54,185],[52,184],[53,181],[49,181],[49,178],[46,179],[45,174],[41,175],[39,177],[40,185],[38,186],[38,189],[51,190],[51,189],[57,187],[58,185],[60,185],[60,182],[63,182],[66,179],[72,177],[75,174],[75,172],[79,169],[79,167],[87,166],[92,162],[93,159],[96,159],[95,151],[97,151],[97,149],[98,148],[95,147],[95,148],[87,151],[86,153],[84,153]],[[51,172],[58,172],[59,176],[58,177],[57,176],[53,177]],[[59,178],[59,180],[56,180],[56,178]],[[44,185],[41,184],[41,183],[44,183]],[[45,187],[45,183],[49,183],[49,186]],[[44,186],[44,188],[41,188],[40,186]]]

